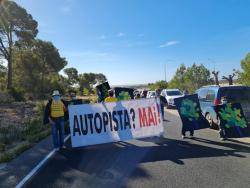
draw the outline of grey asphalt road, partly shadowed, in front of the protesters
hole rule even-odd
[[[177,112],[166,117],[165,138],[65,149],[26,187],[250,187],[250,145],[210,129],[182,140]]]

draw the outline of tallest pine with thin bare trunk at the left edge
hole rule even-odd
[[[12,88],[13,54],[19,45],[28,46],[38,33],[37,22],[14,1],[0,4],[0,56],[8,62],[7,89]]]

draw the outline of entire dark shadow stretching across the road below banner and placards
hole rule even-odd
[[[87,187],[121,187],[128,178],[150,177],[150,173],[139,166],[140,163],[169,160],[184,165],[183,159],[225,156],[244,158],[244,155],[237,153],[250,153],[249,147],[238,144],[198,138],[195,140],[228,149],[167,138],[143,140],[154,142],[154,146],[113,143],[66,149],[54,156],[27,187],[74,187],[72,185],[76,186],[78,183]]]

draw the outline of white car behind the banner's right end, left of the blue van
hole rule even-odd
[[[174,99],[184,96],[179,89],[163,89],[161,94],[167,100],[167,108],[175,107]]]

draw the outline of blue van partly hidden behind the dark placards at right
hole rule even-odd
[[[221,104],[221,98],[226,97],[227,102],[241,103],[244,115],[250,122],[250,87],[248,86],[204,86],[196,91],[198,94],[202,114],[211,128],[218,129],[220,119],[214,106]]]

